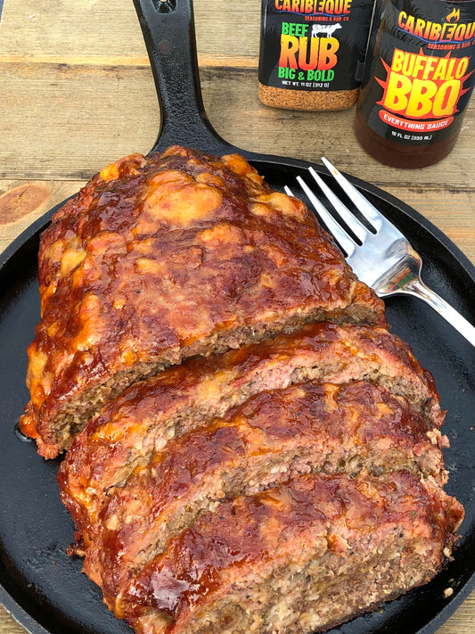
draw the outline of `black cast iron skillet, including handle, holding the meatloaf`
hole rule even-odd
[[[192,2],[135,0],[135,8],[160,95],[160,135],[152,152],[176,143],[218,154],[238,150],[217,136],[203,109]],[[302,161],[239,152],[276,189],[307,169]],[[463,253],[403,202],[353,181],[411,238],[424,259],[426,281],[475,322],[475,268]],[[74,527],[58,496],[59,459],[47,462],[38,457],[35,445],[15,432],[29,399],[26,349],[39,318],[38,239],[58,207],[0,257],[0,601],[32,634],[126,634],[130,630],[109,613],[99,589],[81,574],[81,560],[65,553]],[[412,345],[435,375],[442,405],[448,409],[446,490],[463,503],[466,517],[455,558],[436,579],[333,631],[430,634],[468,596],[475,581],[475,350],[420,301],[389,299],[387,309],[393,332]],[[447,588],[453,589],[450,597],[445,597]]]

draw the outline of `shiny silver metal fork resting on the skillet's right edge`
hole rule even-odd
[[[353,268],[356,276],[365,284],[372,286],[380,297],[400,293],[420,298],[435,309],[439,315],[445,317],[449,324],[453,325],[459,333],[463,334],[465,339],[475,346],[475,327],[422,282],[421,256],[414,251],[405,235],[401,234],[396,226],[389,222],[356,187],[351,185],[330,161],[324,158],[322,161],[341,189],[348,194],[356,209],[372,227],[372,230],[368,229],[352,211],[348,210],[348,207],[326,185],[315,169],[309,168],[309,174],[355,237],[350,235],[325,209],[323,203],[302,177],[297,177],[297,180],[314,205],[317,215],[323,219],[335,242],[340,245],[340,249],[346,255],[348,264]],[[288,186],[285,186],[285,191],[294,195]]]

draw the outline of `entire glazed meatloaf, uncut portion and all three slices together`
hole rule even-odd
[[[302,202],[237,155],[102,170],[41,238],[21,429],[137,634],[310,634],[431,580],[433,377]]]

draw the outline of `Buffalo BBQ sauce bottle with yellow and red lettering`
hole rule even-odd
[[[475,1],[376,0],[356,138],[373,158],[423,168],[454,147],[475,81]]]

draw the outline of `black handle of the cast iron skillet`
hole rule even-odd
[[[182,144],[204,152],[235,152],[209,123],[201,96],[192,0],[134,0],[160,103],[152,152]]]

